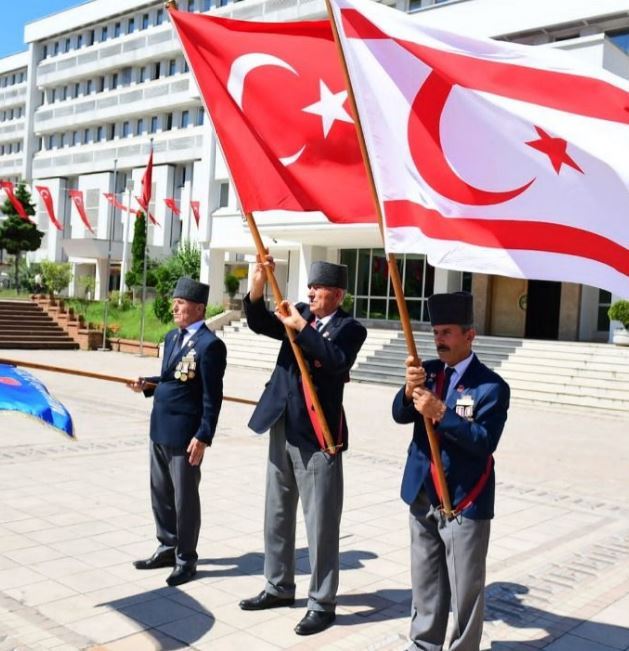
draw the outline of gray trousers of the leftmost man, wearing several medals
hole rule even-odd
[[[158,552],[174,550],[177,565],[195,565],[201,530],[201,468],[191,466],[185,449],[151,441],[151,505]]]

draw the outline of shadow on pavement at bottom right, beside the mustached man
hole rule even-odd
[[[491,583],[485,589],[485,621],[502,621],[508,626],[520,629],[540,629],[545,637],[520,640],[525,648],[534,643],[537,648],[544,648],[566,633],[575,636],[574,644],[579,649],[626,649],[629,648],[629,628],[604,624],[576,617],[565,617],[551,611],[542,610],[524,603],[524,595],[529,588],[520,583]],[[518,640],[493,640],[492,651],[511,651]],[[576,648],[569,639],[558,641],[552,648],[567,651]]]

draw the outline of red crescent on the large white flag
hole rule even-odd
[[[440,195],[457,203],[489,206],[509,201],[522,194],[535,181],[512,190],[492,192],[470,185],[452,169],[443,151],[441,115],[452,84],[432,72],[413,100],[408,121],[408,141],[413,162],[426,183]]]

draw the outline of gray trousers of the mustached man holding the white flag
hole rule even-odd
[[[450,651],[478,651],[491,520],[448,521],[422,490],[411,504],[410,649],[441,651],[452,606]]]

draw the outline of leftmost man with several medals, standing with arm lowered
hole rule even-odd
[[[186,583],[196,573],[201,528],[199,482],[223,400],[225,344],[205,325],[209,286],[180,278],[173,292],[177,328],[166,334],[161,375],[131,388],[153,396],[151,504],[158,547],[138,570],[173,567],[166,583]]]

